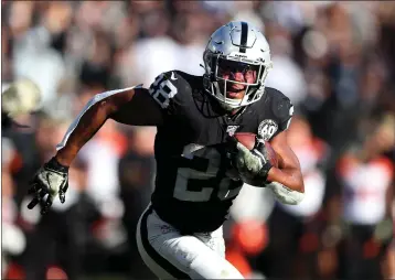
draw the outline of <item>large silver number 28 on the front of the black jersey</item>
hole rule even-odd
[[[180,168],[178,170],[173,196],[184,202],[209,202],[214,192],[213,186],[202,185],[200,191],[190,191],[188,190],[188,185],[190,180],[201,180],[202,184],[204,184],[204,180],[210,180],[217,175],[221,164],[220,152],[213,148],[190,144],[184,147],[183,157],[189,160],[193,160],[195,158],[207,160],[209,164],[204,172],[190,168]],[[232,185],[232,180],[227,176],[224,176],[218,184],[220,185],[216,197],[221,201],[237,196],[242,189],[242,186],[239,186],[231,190],[229,187]]]

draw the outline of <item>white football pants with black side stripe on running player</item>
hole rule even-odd
[[[207,234],[181,235],[148,206],[136,237],[142,260],[160,279],[243,279],[225,259],[222,227]]]

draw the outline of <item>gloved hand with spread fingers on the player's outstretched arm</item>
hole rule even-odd
[[[29,203],[28,208],[32,209],[40,203],[41,214],[46,214],[57,194],[61,202],[65,202],[67,187],[68,166],[62,165],[55,158],[52,158],[30,182],[28,193],[34,195],[34,198]],[[47,196],[46,200],[45,196]]]

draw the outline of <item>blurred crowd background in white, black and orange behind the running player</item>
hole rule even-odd
[[[210,34],[246,20],[267,36],[267,85],[297,114],[300,205],[246,186],[225,225],[246,278],[395,279],[395,2],[2,1],[1,78],[41,109],[2,133],[2,277],[148,279],[135,244],[153,187],[154,128],[107,121],[71,166],[66,203],[28,211],[28,182],[93,95],[164,71],[202,74]],[[188,63],[185,63],[188,62]]]

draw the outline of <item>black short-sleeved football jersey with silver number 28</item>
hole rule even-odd
[[[243,182],[226,152],[229,134],[253,132],[270,140],[289,126],[293,107],[274,88],[259,101],[228,116],[203,77],[172,71],[159,75],[149,93],[163,110],[154,142],[152,207],[183,233],[212,231],[228,215]]]

